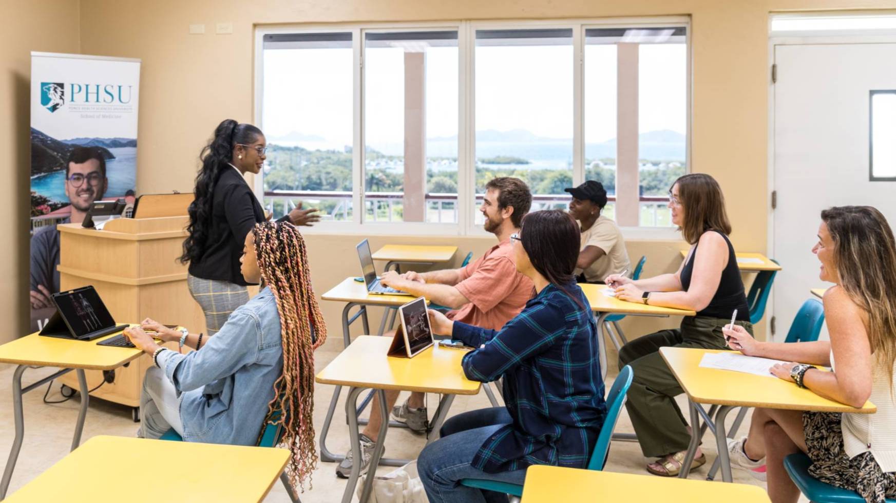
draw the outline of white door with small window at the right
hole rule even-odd
[[[896,90],[894,62],[896,43],[774,46],[773,258],[783,268],[773,289],[776,340],[809,289],[830,286],[811,252],[822,209],[874,206],[896,226],[896,182],[872,182],[869,169],[870,93]]]

